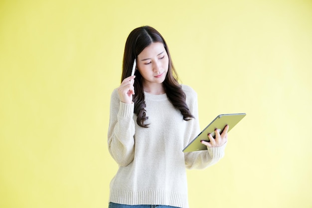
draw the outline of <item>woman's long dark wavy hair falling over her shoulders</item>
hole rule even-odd
[[[144,50],[144,48],[146,48],[153,42],[162,43],[169,58],[168,72],[163,81],[164,91],[172,105],[181,112],[181,114],[183,115],[183,119],[185,121],[188,121],[191,118],[194,118],[194,116],[191,114],[186,105],[186,96],[182,90],[181,85],[178,83],[178,76],[172,64],[168,46],[161,34],[153,27],[138,27],[132,30],[132,32],[129,34],[124,51],[123,73],[121,81],[131,76],[131,71],[135,58],[138,57],[138,55]],[[146,103],[142,84],[143,77],[140,74],[139,70],[136,70],[135,75],[135,95],[133,97],[133,102],[135,103],[134,111],[138,116],[138,125],[147,128],[149,124],[145,124],[145,121],[148,120],[148,117],[146,116],[145,110]]]

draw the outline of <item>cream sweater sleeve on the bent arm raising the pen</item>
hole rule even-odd
[[[133,115],[134,104],[121,102],[115,89],[112,93],[110,104],[108,149],[111,156],[120,166],[127,166],[134,159],[135,124]]]

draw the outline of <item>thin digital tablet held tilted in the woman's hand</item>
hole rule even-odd
[[[220,130],[222,133],[224,127],[229,125],[229,132],[240,120],[246,116],[246,113],[233,113],[233,114],[221,114],[218,115],[200,134],[193,139],[184,149],[183,152],[193,152],[199,150],[207,150],[207,146],[201,144],[200,141],[209,141],[208,134],[215,136],[214,130]]]

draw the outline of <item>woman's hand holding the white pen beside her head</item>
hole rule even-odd
[[[121,85],[118,87],[118,94],[120,101],[123,103],[132,103],[132,96],[135,94],[135,88],[133,86],[136,76],[130,76],[123,80]]]

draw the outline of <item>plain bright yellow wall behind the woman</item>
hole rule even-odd
[[[191,208],[312,208],[311,0],[1,0],[0,207],[107,208],[109,102],[130,31],[154,26],[203,128],[245,112]]]

